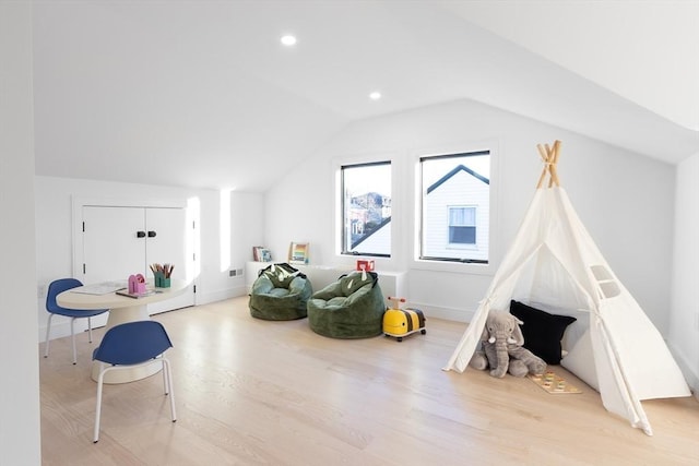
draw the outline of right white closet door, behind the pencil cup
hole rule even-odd
[[[174,279],[185,279],[191,282],[193,273],[191,237],[187,232],[191,231],[191,226],[187,225],[187,215],[183,208],[145,208],[145,258],[147,264],[171,264]],[[147,266],[147,265],[146,265]],[[153,273],[147,270],[147,277],[153,278]],[[173,309],[186,308],[194,304],[193,290],[188,290],[182,295],[168,299],[167,301],[149,304],[149,311],[169,311]]]

